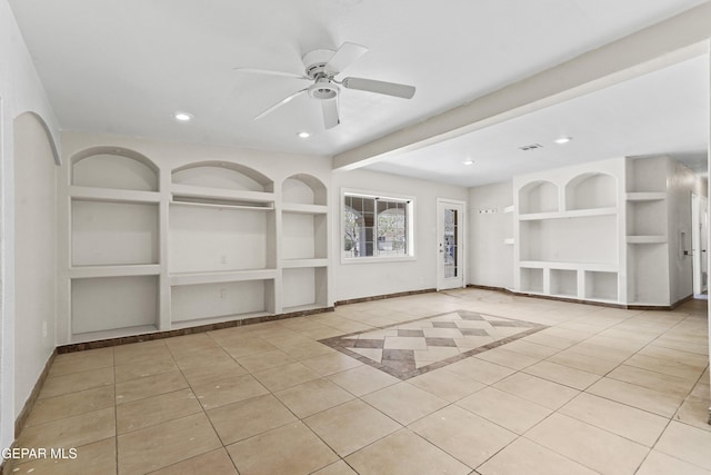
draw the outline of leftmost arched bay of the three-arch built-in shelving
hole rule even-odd
[[[156,330],[158,167],[140,154],[101,147],[76,155],[68,171],[71,335]]]

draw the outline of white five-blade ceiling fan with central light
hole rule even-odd
[[[270,108],[254,117],[254,120],[261,119],[262,117],[273,112],[298,96],[306,93],[309,97],[321,102],[321,109],[323,111],[323,125],[327,129],[330,129],[340,123],[338,97],[341,93],[341,87],[346,89],[357,89],[361,91],[394,96],[403,99],[411,99],[412,96],[414,96],[415,89],[413,86],[377,81],[373,79],[364,78],[349,77],[343,78],[342,80],[336,79],[336,77],[340,75],[346,68],[348,68],[352,62],[354,62],[358,58],[365,55],[367,52],[368,48],[350,42],[344,42],[337,51],[330,49],[318,49],[314,51],[310,51],[302,58],[303,65],[306,67],[304,75],[256,68],[234,69],[241,72],[282,76],[288,78],[304,79],[312,82],[311,86],[303,88],[292,95],[289,95],[276,105],[271,106]]]

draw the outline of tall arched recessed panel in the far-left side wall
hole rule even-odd
[[[47,133],[30,112],[14,120],[14,416],[54,350],[57,166]]]

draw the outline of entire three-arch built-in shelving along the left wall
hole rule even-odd
[[[164,161],[90,147],[63,168],[60,344],[332,305],[322,180]]]

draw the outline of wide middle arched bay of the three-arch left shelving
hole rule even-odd
[[[168,260],[171,324],[276,313],[274,184],[230,162],[171,172]]]

